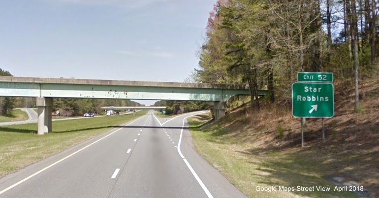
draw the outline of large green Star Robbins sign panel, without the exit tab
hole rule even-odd
[[[293,83],[292,115],[305,118],[330,118],[334,115],[332,83]]]

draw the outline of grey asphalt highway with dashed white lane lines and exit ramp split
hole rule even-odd
[[[204,113],[196,112],[196,113]],[[246,198],[153,111],[0,179],[0,198]]]

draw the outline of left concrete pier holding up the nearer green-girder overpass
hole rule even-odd
[[[52,98],[38,97],[36,100],[38,107],[38,130],[39,135],[45,132],[51,132],[51,110],[53,106]]]

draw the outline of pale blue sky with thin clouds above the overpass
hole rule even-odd
[[[0,68],[18,77],[184,82],[216,0],[0,0]]]

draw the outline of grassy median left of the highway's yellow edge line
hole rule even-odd
[[[134,120],[136,116],[119,115],[52,122],[53,132],[37,135],[37,125],[24,124],[0,127],[0,177],[57,154],[80,142],[91,139],[114,127]]]

